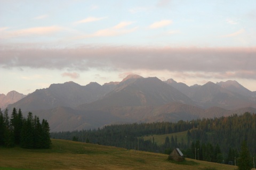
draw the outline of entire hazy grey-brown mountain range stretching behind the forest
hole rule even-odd
[[[21,108],[23,115],[33,112],[45,118],[51,131],[71,131],[108,124],[255,113],[256,92],[230,80],[187,86],[173,79],[128,75],[121,82],[102,86],[97,82],[86,86],[75,82],[51,84],[8,105],[9,109],[13,107]]]

